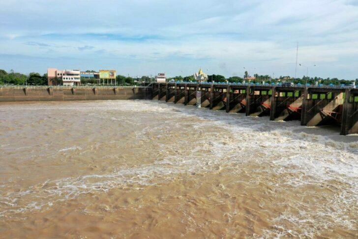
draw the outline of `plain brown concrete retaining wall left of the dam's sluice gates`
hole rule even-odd
[[[0,86],[0,102],[14,101],[86,101],[86,100],[149,100],[152,87],[63,87],[63,86]]]

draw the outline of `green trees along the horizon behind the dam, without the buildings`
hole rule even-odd
[[[88,71],[90,72],[90,71]],[[230,83],[243,83],[244,78],[249,77],[250,75],[245,72],[243,77],[240,76],[231,76],[229,78],[226,78],[223,75],[208,75],[208,82],[230,82]],[[269,75],[259,75],[254,74],[255,79],[251,80],[252,83],[262,83],[265,81],[265,83],[277,83],[277,82],[293,82],[295,84],[305,84],[306,82],[313,85],[315,82],[318,82],[319,84],[324,85],[340,85],[340,84],[352,84],[353,81],[356,82],[358,85],[358,78],[355,80],[345,80],[345,79],[338,79],[338,78],[321,78],[321,77],[306,77],[303,76],[302,78],[293,78],[290,76],[279,76],[276,78],[272,78]],[[142,76],[142,77],[131,77],[131,76],[124,76],[124,75],[117,75],[116,76],[116,84],[117,85],[139,85],[142,82],[152,82],[154,81],[153,77],[149,76]],[[175,76],[175,77],[169,77],[167,78],[167,81],[195,81],[195,78],[193,75],[188,76]],[[247,80],[246,80],[247,82]],[[0,69],[0,85],[48,85],[47,83],[47,73],[40,75],[40,73],[37,72],[31,72],[28,75],[14,72],[14,70],[10,70],[10,72],[6,72],[3,69]],[[98,84],[98,79],[90,78],[86,79],[84,77],[81,77],[81,84]]]

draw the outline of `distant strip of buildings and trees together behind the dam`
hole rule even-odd
[[[298,85],[352,85],[358,84],[358,78],[352,80],[338,78],[307,77],[295,78],[292,76],[270,76],[259,75],[257,73],[250,75],[246,70],[241,76],[231,76],[226,78],[223,75],[208,75],[202,68],[188,76],[167,77],[165,73],[143,76],[125,76],[117,74],[115,69],[86,70],[79,69],[57,69],[48,68],[47,73],[41,75],[37,72],[22,74],[10,70],[6,72],[0,69],[0,85],[49,85],[49,86],[80,86],[80,85],[141,85],[145,82],[224,82],[237,84],[282,84],[291,82]]]

